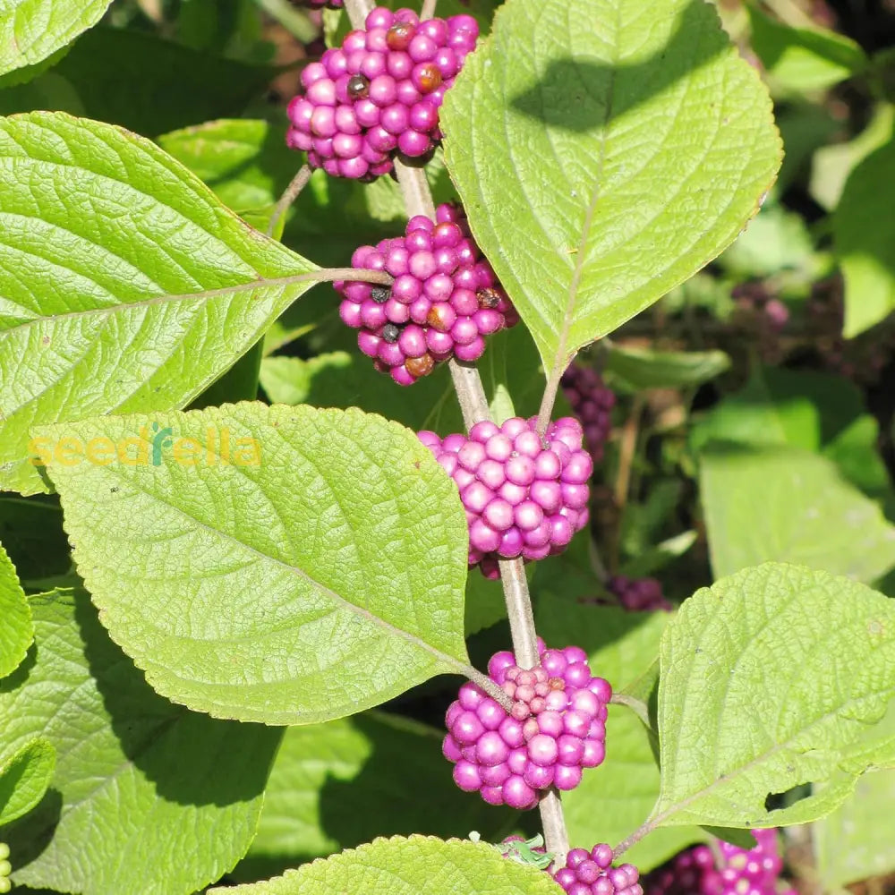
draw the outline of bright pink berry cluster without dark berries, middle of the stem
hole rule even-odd
[[[477,422],[469,437],[419,438],[456,482],[469,524],[469,565],[499,577],[498,559],[542,559],[565,550],[588,521],[591,456],[581,424],[564,416],[544,440],[536,419]]]

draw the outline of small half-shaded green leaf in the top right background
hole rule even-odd
[[[754,4],[746,9],[752,26],[750,44],[771,85],[784,93],[826,90],[861,72],[867,63],[861,47],[842,34],[791,28]]]

